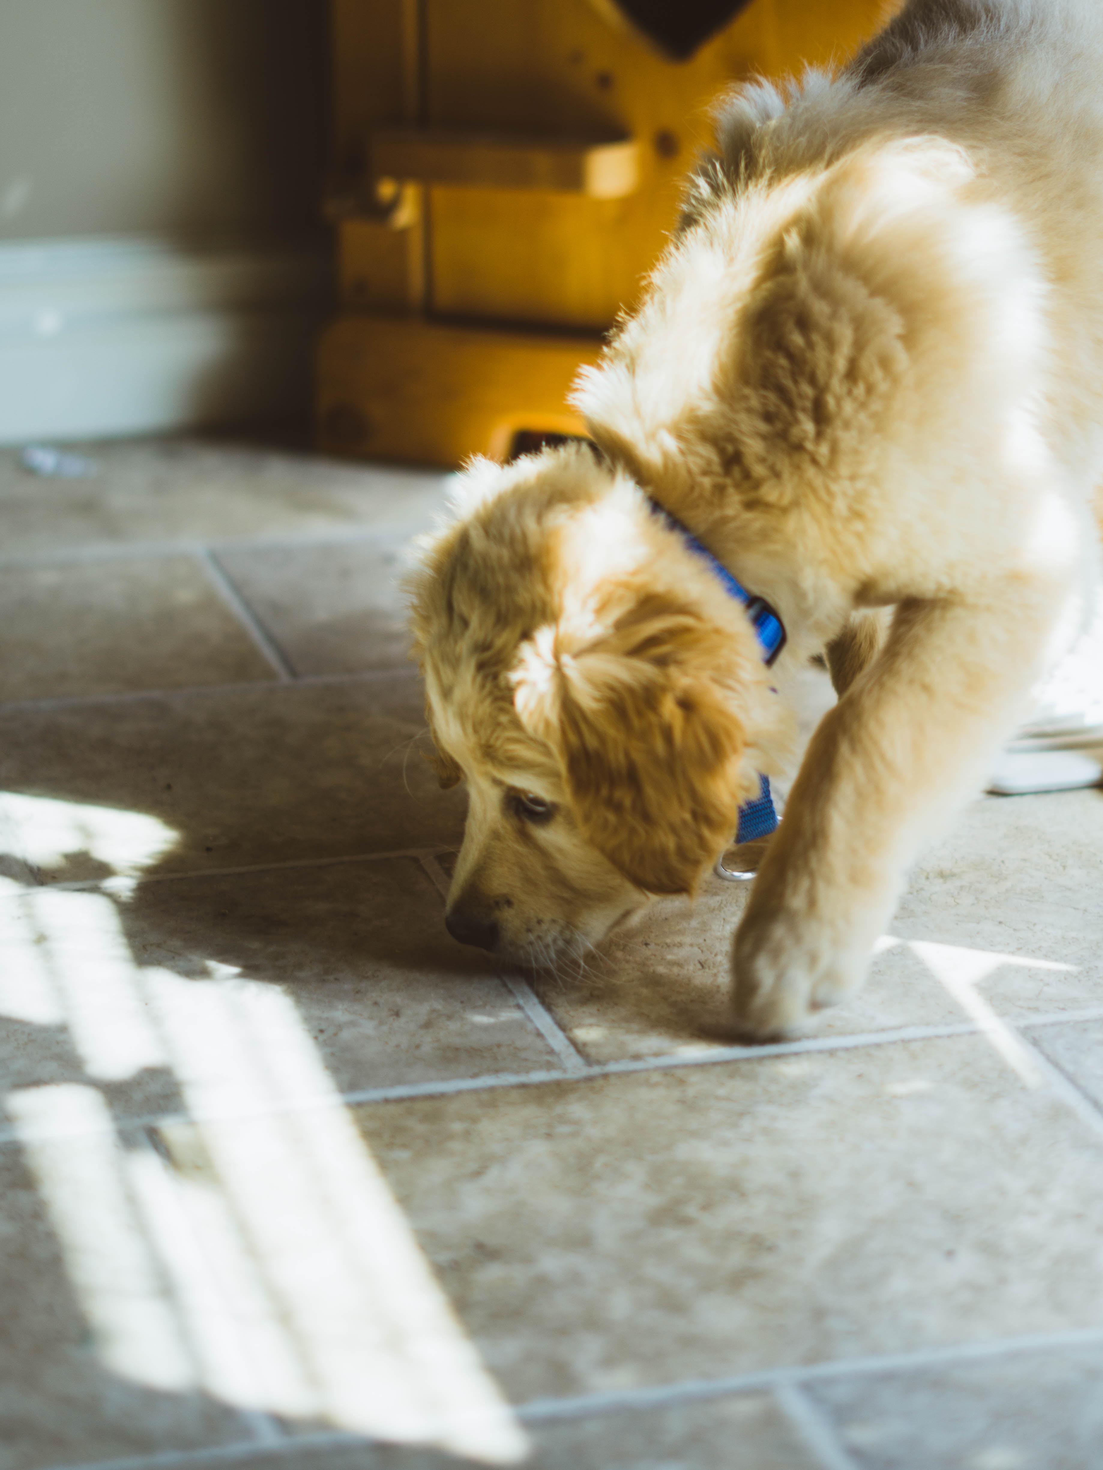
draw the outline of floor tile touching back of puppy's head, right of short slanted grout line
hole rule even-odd
[[[219,560],[296,673],[410,666],[401,541],[265,547]]]

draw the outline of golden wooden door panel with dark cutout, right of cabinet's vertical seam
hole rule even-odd
[[[622,200],[431,188],[431,312],[607,326],[635,304],[674,228],[718,94],[802,57],[844,56],[879,10],[879,0],[756,0],[690,62],[672,63],[588,0],[426,0],[432,126],[640,140],[640,187]]]

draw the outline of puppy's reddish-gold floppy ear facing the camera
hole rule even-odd
[[[544,628],[525,645],[518,714],[557,751],[587,841],[649,892],[693,892],[747,794],[729,639],[685,613],[637,610],[577,653],[568,641]]]

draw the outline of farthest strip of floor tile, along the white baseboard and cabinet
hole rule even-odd
[[[135,541],[232,541],[413,531],[443,501],[440,472],[347,465],[229,440],[184,437],[68,445],[90,479],[40,479],[0,451],[4,557]]]

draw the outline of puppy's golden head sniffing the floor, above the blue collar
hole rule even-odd
[[[757,791],[771,695],[741,610],[588,450],[462,490],[413,584],[437,769],[471,800],[449,926],[547,963],[693,892]]]

